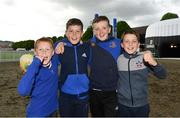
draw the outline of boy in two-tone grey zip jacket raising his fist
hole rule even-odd
[[[148,74],[166,78],[166,70],[159,65],[150,51],[137,52],[139,35],[126,31],[122,35],[124,52],[118,57],[118,103],[121,117],[148,117]]]

